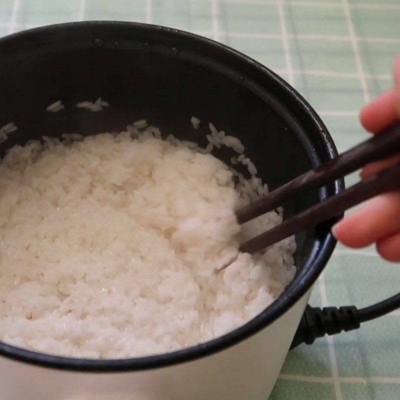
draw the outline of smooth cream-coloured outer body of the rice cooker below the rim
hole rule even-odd
[[[265,400],[310,290],[257,334],[210,356],[132,372],[68,372],[0,358],[0,400]]]

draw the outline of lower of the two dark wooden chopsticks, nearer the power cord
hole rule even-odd
[[[327,198],[281,224],[247,240],[239,247],[253,253],[318,223],[340,215],[346,209],[380,193],[400,189],[400,163],[362,180],[341,193]]]

